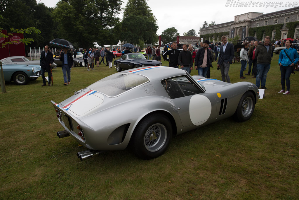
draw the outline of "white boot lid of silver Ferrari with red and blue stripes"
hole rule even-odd
[[[95,90],[83,89],[76,93],[60,103],[63,109],[76,115],[83,115],[103,103],[103,94]]]

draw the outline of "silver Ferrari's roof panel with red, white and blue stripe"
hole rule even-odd
[[[148,77],[150,80],[162,80],[172,76],[182,76],[186,74],[185,70],[166,66],[140,67],[125,70],[124,72],[137,73]]]

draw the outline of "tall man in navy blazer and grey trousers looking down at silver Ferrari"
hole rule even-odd
[[[230,83],[231,79],[228,76],[228,70],[234,58],[234,45],[227,42],[226,36],[222,36],[221,40],[223,44],[220,46],[217,67],[220,67],[222,81]]]

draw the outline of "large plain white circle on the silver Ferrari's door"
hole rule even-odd
[[[212,105],[210,100],[201,95],[193,95],[190,99],[189,112],[192,123],[196,126],[205,123],[211,115]]]

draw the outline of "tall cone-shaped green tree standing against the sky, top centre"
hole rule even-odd
[[[123,12],[121,40],[128,43],[157,41],[157,19],[144,0],[128,0]]]

